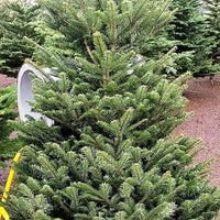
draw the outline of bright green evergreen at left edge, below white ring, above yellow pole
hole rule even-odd
[[[21,140],[10,139],[13,131],[9,120],[15,119],[16,88],[14,86],[0,88],[0,158],[3,162],[12,158],[18,148],[21,147]]]

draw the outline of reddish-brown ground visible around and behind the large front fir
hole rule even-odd
[[[15,78],[0,75],[0,87],[15,84]],[[188,135],[201,139],[199,147],[202,150],[195,158],[195,163],[212,160],[209,182],[220,186],[220,76],[211,84],[208,77],[193,79],[185,91],[189,100],[186,111],[193,116],[175,131],[174,135]],[[1,184],[6,182],[7,170],[0,170]]]

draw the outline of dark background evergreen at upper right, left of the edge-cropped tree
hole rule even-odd
[[[216,35],[209,34],[211,24],[202,12],[200,0],[174,0],[176,19],[170,23],[170,40],[178,41],[177,52],[183,56],[177,61],[179,73],[190,70],[194,76],[207,76],[218,72],[210,56],[216,47]]]

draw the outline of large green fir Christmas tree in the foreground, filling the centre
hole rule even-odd
[[[12,220],[216,215],[220,195],[205,178],[206,163],[190,165],[197,141],[170,138],[188,116],[182,94],[189,76],[167,80],[161,70],[168,54],[148,61],[139,50],[173,16],[168,2],[43,2],[47,28],[70,53],[53,37],[37,47],[48,81],[34,80],[33,110],[53,125],[31,117],[18,125],[28,145],[4,205]]]

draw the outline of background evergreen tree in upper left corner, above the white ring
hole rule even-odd
[[[32,57],[33,45],[23,37],[41,43],[37,26],[38,7],[24,1],[4,3],[0,9],[0,73],[16,76],[25,58]]]

